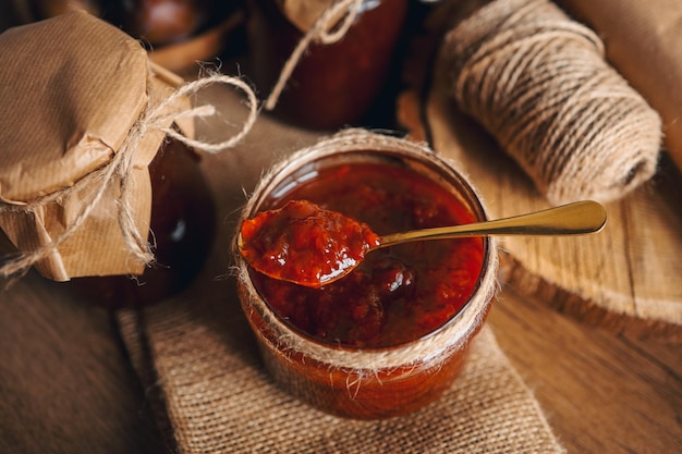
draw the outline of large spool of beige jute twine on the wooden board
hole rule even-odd
[[[647,181],[661,122],[604,60],[599,37],[548,0],[482,3],[443,41],[461,109],[552,204],[609,201]]]

